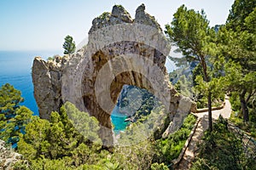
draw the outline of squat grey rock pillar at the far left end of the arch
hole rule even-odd
[[[40,117],[49,119],[51,111],[59,111],[61,107],[61,77],[63,67],[68,56],[55,56],[54,59],[44,61],[36,57],[32,66],[32,81],[34,96],[38,103]]]

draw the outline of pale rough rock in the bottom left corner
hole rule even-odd
[[[0,140],[0,169],[10,170],[12,165],[21,159],[21,155],[4,145],[5,142]]]

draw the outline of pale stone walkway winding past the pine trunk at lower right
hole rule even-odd
[[[197,144],[201,143],[201,138],[203,136],[203,132],[205,132],[208,128],[208,112],[196,113],[196,116],[200,119],[197,127],[195,128],[195,133],[190,140],[188,148],[185,150],[183,158],[177,165],[175,169],[189,169],[191,167],[191,162],[195,158],[195,153],[198,150]],[[224,108],[217,111],[212,111],[212,118],[218,119],[218,116],[221,115],[224,118],[230,118],[231,115],[231,105],[228,97],[225,97],[225,105]]]

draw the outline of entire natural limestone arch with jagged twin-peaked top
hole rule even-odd
[[[154,17],[137,8],[135,19],[115,5],[92,21],[88,44],[76,54],[45,62],[35,58],[32,68],[35,98],[40,117],[49,119],[63,102],[88,111],[101,124],[104,145],[113,144],[110,114],[125,84],[146,88],[166,106],[169,117],[186,116],[191,101],[177,94],[166,73],[170,45]],[[183,108],[179,108],[179,104]],[[175,129],[175,123],[170,129]],[[178,123],[177,123],[178,124]]]

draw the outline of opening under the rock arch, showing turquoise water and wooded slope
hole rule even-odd
[[[133,122],[143,123],[160,106],[160,100],[147,89],[125,84],[111,113],[113,132],[119,134]]]

